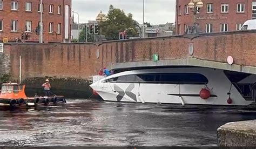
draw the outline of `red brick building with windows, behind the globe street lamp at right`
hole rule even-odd
[[[223,32],[240,30],[246,20],[256,19],[256,0],[201,1],[204,5],[194,16],[187,6],[191,0],[176,0],[177,35],[184,34],[194,21],[201,32]]]

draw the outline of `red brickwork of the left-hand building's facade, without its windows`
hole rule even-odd
[[[0,31],[0,40],[3,40],[4,37],[7,37],[9,40],[15,40],[17,37],[21,37],[21,33],[25,31],[26,21],[31,21],[31,36],[28,39],[29,41],[38,42],[39,36],[36,35],[36,27],[40,21],[40,13],[38,12],[38,4],[40,1],[35,0],[19,0],[18,2],[18,11],[11,11],[11,1],[3,1],[3,10],[0,10],[0,19],[3,19],[3,31]],[[25,11],[25,3],[32,3],[32,11]],[[64,39],[64,17],[65,17],[65,4],[72,6],[71,0],[44,0],[44,11],[43,11],[43,39],[44,42],[56,42],[56,35],[54,33],[49,33],[49,23],[53,22],[53,31],[57,32],[57,24],[61,23],[60,34],[58,35],[58,42],[63,42]],[[49,5],[53,4],[53,14],[49,13]],[[61,6],[60,15],[58,12],[58,5]],[[70,10],[71,13],[71,10]],[[18,31],[11,32],[11,21],[18,21]],[[71,15],[70,15],[70,24],[71,24]],[[70,27],[70,26],[69,26]],[[71,37],[71,29],[69,30],[69,35]]]

